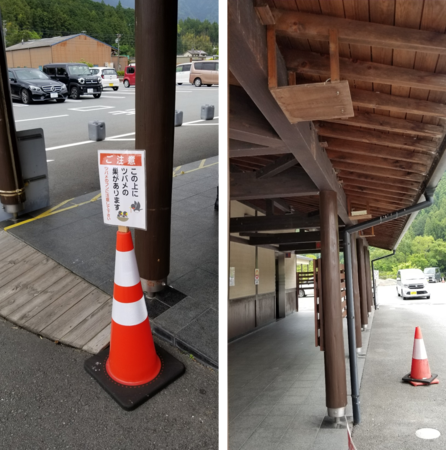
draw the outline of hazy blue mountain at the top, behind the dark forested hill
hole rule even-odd
[[[101,0],[95,0],[101,2]],[[118,5],[119,0],[104,0],[104,3],[111,6]],[[135,0],[121,0],[123,8],[135,9]],[[178,18],[180,19],[209,20],[211,23],[219,22],[219,2],[218,0],[179,0]]]

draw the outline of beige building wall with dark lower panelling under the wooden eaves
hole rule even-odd
[[[254,216],[253,209],[231,202],[231,217]],[[229,287],[228,338],[242,336],[275,320],[275,253],[258,248],[259,285],[254,284],[255,247],[230,242],[230,267],[235,285]]]

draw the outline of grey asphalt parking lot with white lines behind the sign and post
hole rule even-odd
[[[23,105],[14,101],[17,130],[42,128],[45,135],[50,201],[55,205],[99,189],[97,150],[135,148],[135,87],[106,89],[101,98]],[[200,109],[215,108],[214,120],[201,121]],[[218,87],[176,85],[176,109],[183,125],[175,129],[174,167],[218,154]],[[106,124],[106,140],[88,140],[88,122]],[[172,118],[174,126],[174,117]]]

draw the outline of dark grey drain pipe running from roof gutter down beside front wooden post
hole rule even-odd
[[[346,275],[346,307],[348,322],[348,343],[349,343],[349,368],[351,374],[351,397],[352,412],[354,416],[354,425],[360,423],[360,387],[357,373],[357,352],[355,342],[355,315],[354,315],[354,286],[352,282],[352,257],[351,257],[351,234],[366,230],[382,223],[390,222],[399,217],[407,216],[421,209],[428,208],[433,204],[433,194],[435,188],[430,187],[425,190],[425,201],[410,206],[409,208],[399,209],[398,211],[386,214],[384,216],[371,219],[350,227],[344,231],[344,258]]]

